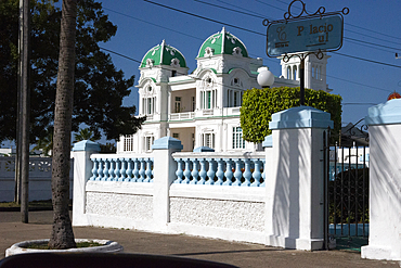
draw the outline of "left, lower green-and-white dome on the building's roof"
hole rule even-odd
[[[156,65],[170,65],[172,67],[186,67],[183,54],[176,48],[166,44],[163,40],[160,44],[152,48],[142,59],[141,68]]]

